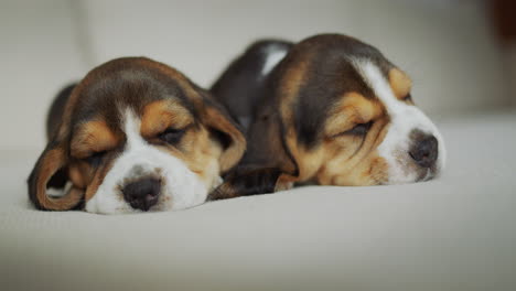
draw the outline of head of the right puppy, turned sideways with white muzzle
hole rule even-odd
[[[270,79],[295,181],[399,184],[429,180],[444,166],[442,137],[416,107],[410,77],[373,46],[313,36]]]

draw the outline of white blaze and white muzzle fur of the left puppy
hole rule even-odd
[[[149,144],[140,136],[140,120],[130,109],[123,114],[123,152],[86,203],[87,212],[137,212],[123,200],[121,188],[131,180],[146,176],[159,176],[163,182],[160,200],[151,209],[183,209],[204,203],[208,186],[183,161]]]

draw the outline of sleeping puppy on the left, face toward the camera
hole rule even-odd
[[[47,137],[28,181],[34,206],[100,214],[202,204],[246,148],[206,90],[143,57],[110,61],[65,88]],[[47,195],[50,187],[64,195]]]

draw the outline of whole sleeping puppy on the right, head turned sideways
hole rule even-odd
[[[246,126],[248,150],[211,198],[437,176],[444,143],[410,91],[404,71],[350,36],[255,43],[212,87]]]

